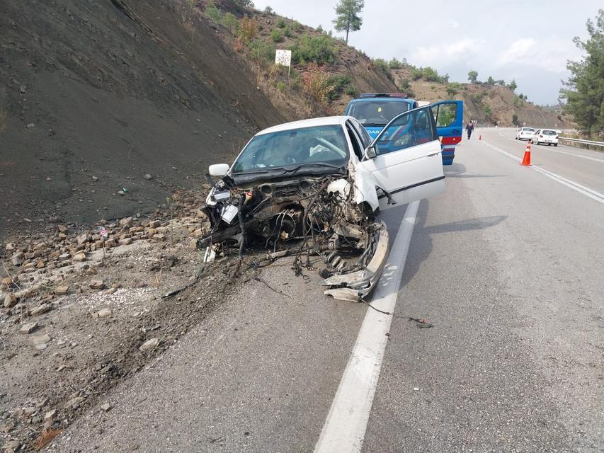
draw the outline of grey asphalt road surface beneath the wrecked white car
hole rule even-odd
[[[479,134],[408,222],[395,316],[327,299],[283,260],[262,274],[276,292],[250,282],[50,448],[313,452],[334,398],[365,398],[362,443],[331,451],[604,451],[604,198],[564,183],[601,193],[604,154],[533,147],[528,168],[511,130]],[[384,212],[392,236],[404,214]],[[368,312],[387,331],[379,380],[348,394]]]

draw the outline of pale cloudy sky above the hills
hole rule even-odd
[[[280,16],[331,30],[336,0],[254,0]],[[516,93],[537,104],[558,102],[566,61],[581,59],[573,38],[587,37],[586,21],[595,18],[602,0],[549,1],[387,1],[365,0],[363,25],[348,44],[372,58],[406,58],[431,66],[450,81],[489,76],[515,79]],[[334,35],[344,36],[336,32]]]

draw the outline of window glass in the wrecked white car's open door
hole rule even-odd
[[[397,117],[377,140],[379,154],[415,147],[436,139],[436,125],[430,106],[411,110]]]

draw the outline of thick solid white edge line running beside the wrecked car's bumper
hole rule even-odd
[[[372,306],[392,313],[397,304],[401,277],[409,251],[411,234],[416,222],[419,202],[407,206],[405,216],[399,226],[388,262],[380,278]],[[384,349],[388,337],[392,315],[385,315],[367,308],[353,352],[338,386],[336,398],[331,403],[329,415],[321,430],[314,453],[355,453],[360,452],[365,438],[365,430],[373,396],[380,378]]]

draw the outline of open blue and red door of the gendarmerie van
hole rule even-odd
[[[443,165],[452,165],[455,159],[455,147],[462,141],[464,103],[440,101],[431,104],[431,108],[443,151]]]

